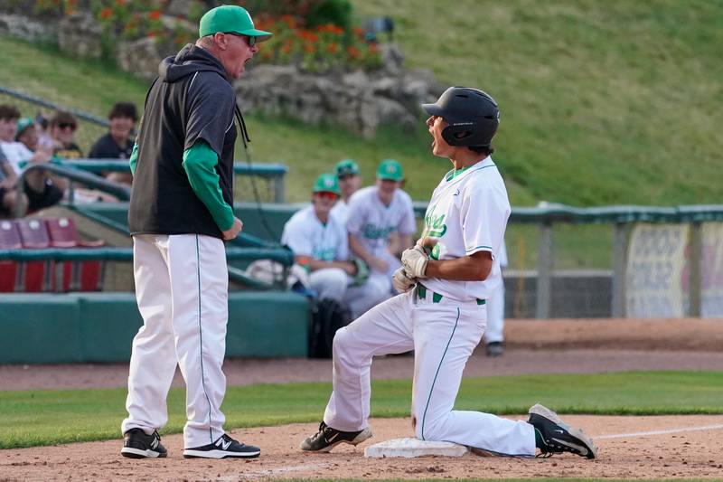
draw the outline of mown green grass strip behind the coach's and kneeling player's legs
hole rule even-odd
[[[318,421],[330,383],[230,387],[227,428]],[[373,417],[409,414],[411,381],[373,384]],[[0,392],[0,449],[115,439],[126,390]],[[183,430],[183,390],[168,399],[164,433]],[[561,413],[723,413],[723,372],[549,374],[465,379],[455,408],[520,414],[535,402]]]

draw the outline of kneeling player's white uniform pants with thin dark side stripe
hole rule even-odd
[[[478,411],[455,411],[467,358],[480,342],[485,306],[442,298],[418,299],[416,290],[391,298],[336,332],[333,392],[324,422],[337,430],[367,426],[371,358],[415,351],[412,417],[418,439],[445,440],[503,455],[533,456],[531,424]]]

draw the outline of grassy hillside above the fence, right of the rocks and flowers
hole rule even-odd
[[[408,65],[488,90],[505,174],[533,199],[719,203],[723,3],[356,0]]]

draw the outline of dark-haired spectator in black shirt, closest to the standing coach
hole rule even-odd
[[[99,137],[96,143],[90,148],[89,158],[91,159],[129,159],[133,152],[133,140],[131,133],[136,128],[138,115],[136,105],[131,102],[117,102],[110,109],[108,121],[110,131],[108,134]],[[108,173],[109,181],[131,184],[133,175],[130,173]]]

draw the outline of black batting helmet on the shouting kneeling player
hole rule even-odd
[[[500,125],[497,102],[470,87],[450,87],[436,103],[422,104],[422,109],[447,121],[442,137],[450,146],[489,147]]]

